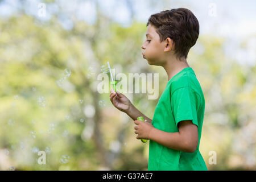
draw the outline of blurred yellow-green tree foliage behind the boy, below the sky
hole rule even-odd
[[[0,19],[0,155],[5,153],[0,169],[147,169],[148,146],[135,138],[132,120],[112,106],[108,93],[97,92],[100,65],[109,61],[125,74],[159,73],[164,80],[159,82],[160,97],[167,76],[141,56],[146,23],[125,28],[102,16],[94,26],[73,23],[68,31],[56,16],[47,23],[26,14]],[[248,126],[255,121],[256,71],[226,57],[224,40],[201,36],[197,44],[204,52],[192,48],[188,56],[205,95],[200,150],[209,169],[251,169],[240,161],[245,154],[253,156],[255,146],[247,154],[234,143],[243,142],[236,133],[253,132]],[[146,98],[134,94],[133,103],[152,118],[158,100]],[[47,164],[39,165],[36,151],[47,147]],[[220,156],[219,165],[208,164],[212,150]],[[69,155],[67,163],[61,163],[63,155]]]

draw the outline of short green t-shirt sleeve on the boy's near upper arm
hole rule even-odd
[[[192,120],[192,123],[198,127],[196,108],[199,103],[200,96],[189,86],[175,90],[171,96],[171,107],[176,126],[180,121]]]

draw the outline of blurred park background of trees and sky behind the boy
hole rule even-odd
[[[200,23],[187,61],[205,97],[205,163],[255,170],[256,2],[247,0],[0,1],[0,169],[147,170],[148,142],[97,91],[97,76],[106,61],[116,73],[159,73],[159,99],[166,72],[141,46],[149,16],[178,7]],[[158,99],[126,96],[153,117]]]

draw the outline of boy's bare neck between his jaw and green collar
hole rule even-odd
[[[177,59],[176,57],[171,57],[166,63],[163,65],[163,68],[166,70],[168,75],[168,81],[171,80],[177,73],[182,71],[184,68],[188,68],[189,65],[185,58],[181,60]]]

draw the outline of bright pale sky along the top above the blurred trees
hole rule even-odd
[[[15,9],[19,8],[18,0],[8,0],[0,3],[0,16],[10,16],[15,13]],[[24,1],[26,13],[38,16],[39,0]],[[65,15],[60,16],[61,24],[64,28],[70,29],[73,26],[71,19],[73,14],[79,19],[85,20],[88,24],[93,24],[96,20],[96,10],[94,1],[68,1],[56,0],[60,8],[65,11]],[[101,12],[106,16],[114,19],[122,26],[130,26],[130,11],[127,9],[126,1],[124,0],[98,0]],[[243,0],[179,0],[179,1],[153,1],[154,4],[148,3],[147,0],[131,0],[134,5],[135,19],[139,22],[147,23],[147,19],[151,14],[158,13],[162,10],[174,9],[177,7],[185,7],[191,10],[197,17],[200,23],[200,34],[210,34],[213,36],[224,36],[228,38],[228,47],[225,47],[230,56],[234,59],[240,57],[242,63],[255,64],[256,56],[256,1]],[[162,2],[167,2],[166,6]],[[56,5],[47,5],[46,17],[39,17],[42,20],[51,18],[51,13],[56,13],[59,7]],[[236,46],[241,40],[248,36],[253,36],[247,52]],[[230,46],[229,46],[230,45]],[[234,50],[238,52],[234,55]],[[249,52],[248,52],[249,50]],[[243,57],[249,55],[249,60],[244,60]]]

